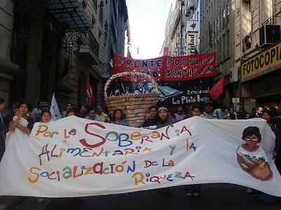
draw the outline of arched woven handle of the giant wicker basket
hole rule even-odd
[[[157,83],[152,78],[152,76],[148,75],[147,73],[143,73],[143,72],[124,71],[124,72],[116,73],[116,74],[112,75],[107,80],[107,82],[105,83],[105,90],[104,90],[104,98],[105,98],[105,100],[108,98],[107,97],[107,88],[109,87],[111,81],[115,80],[115,78],[119,78],[119,77],[122,77],[122,76],[143,76],[144,78],[148,79],[150,81],[150,83],[152,83],[152,85],[156,88],[156,92],[155,93],[159,93],[158,92],[158,88],[157,88]]]

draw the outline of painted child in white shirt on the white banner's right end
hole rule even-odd
[[[266,151],[259,146],[261,141],[259,127],[247,127],[243,131],[242,139],[245,144],[237,148],[237,161],[240,167],[255,179],[261,181],[272,179],[273,172],[270,169]]]

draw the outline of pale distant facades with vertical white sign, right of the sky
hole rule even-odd
[[[199,6],[197,0],[176,0],[171,5],[161,56],[195,55],[199,52]]]

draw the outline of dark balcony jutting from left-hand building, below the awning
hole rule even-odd
[[[100,45],[96,40],[95,36],[91,33],[91,31],[86,35],[86,45],[82,48],[79,48],[79,54],[81,55],[81,59],[84,59],[89,65],[98,65],[100,64],[99,52]]]

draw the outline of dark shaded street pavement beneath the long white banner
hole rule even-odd
[[[281,202],[266,203],[255,195],[249,195],[247,188],[229,184],[207,184],[201,197],[186,197],[184,188],[172,188],[173,197],[164,197],[159,190],[138,193],[107,195],[97,197],[46,199],[27,198],[15,207],[17,210],[76,210],[76,209],[259,209],[279,210]]]

